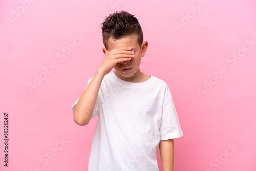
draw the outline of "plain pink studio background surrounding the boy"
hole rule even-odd
[[[249,0],[2,0],[0,170],[87,170],[97,116],[79,126],[71,106],[104,58],[100,24],[121,10],[137,17],[149,44],[141,71],[172,93],[184,134],[175,139],[175,170],[256,170],[256,2]],[[73,51],[65,56],[67,47]],[[30,91],[39,75],[44,80]]]

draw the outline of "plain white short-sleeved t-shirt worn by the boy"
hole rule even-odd
[[[150,76],[141,83],[124,81],[114,72],[104,76],[92,116],[98,119],[89,171],[159,171],[159,141],[183,136],[168,84]]]

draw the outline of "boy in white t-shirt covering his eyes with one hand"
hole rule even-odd
[[[183,133],[167,83],[139,69],[148,42],[137,18],[115,12],[102,35],[105,58],[72,106],[78,125],[98,115],[88,170],[159,170],[158,147],[163,170],[173,170]]]

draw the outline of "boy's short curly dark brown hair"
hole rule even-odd
[[[116,11],[113,14],[109,14],[101,25],[103,44],[105,45],[106,49],[108,49],[106,41],[110,37],[115,41],[116,39],[133,33],[137,34],[137,41],[141,49],[143,32],[138,19],[135,18],[134,15],[131,15],[126,11]]]

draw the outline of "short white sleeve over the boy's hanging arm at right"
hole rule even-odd
[[[174,101],[168,86],[165,89],[165,97],[159,131],[160,141],[183,136]]]

